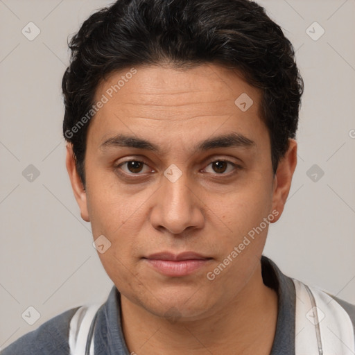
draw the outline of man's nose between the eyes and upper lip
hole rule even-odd
[[[184,231],[200,229],[205,223],[203,202],[198,191],[193,188],[187,173],[178,180],[162,177],[162,186],[155,193],[150,222],[157,230],[171,234],[184,234]]]

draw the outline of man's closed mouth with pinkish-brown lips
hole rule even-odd
[[[159,252],[143,258],[154,270],[168,277],[191,275],[204,267],[213,258],[205,257],[196,252]]]

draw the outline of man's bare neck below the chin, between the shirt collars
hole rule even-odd
[[[122,327],[131,354],[270,354],[277,293],[263,284],[261,264],[236,300],[199,320],[172,322],[121,295]],[[257,341],[256,341],[257,339]]]

